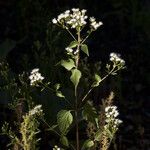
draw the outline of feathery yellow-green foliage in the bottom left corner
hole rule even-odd
[[[19,124],[19,134],[21,136],[13,132],[8,123],[3,125],[2,132],[8,135],[11,140],[11,145],[16,145],[19,149],[23,150],[37,150],[37,144],[40,140],[37,138],[37,134],[40,132],[39,118],[43,115],[39,106],[34,107],[22,116],[23,121]]]

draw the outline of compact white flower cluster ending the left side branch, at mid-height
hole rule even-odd
[[[39,73],[39,69],[35,68],[31,71],[29,79],[30,85],[35,85],[38,81],[42,81],[44,77],[42,77],[41,73]]]

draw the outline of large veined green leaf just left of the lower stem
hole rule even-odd
[[[73,116],[68,110],[61,110],[57,114],[57,123],[62,134],[66,134],[68,128],[73,122]]]

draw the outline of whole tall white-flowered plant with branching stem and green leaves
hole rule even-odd
[[[57,114],[57,125],[51,128],[52,130],[58,130],[60,136],[60,142],[65,148],[72,148],[79,150],[81,146],[79,138],[79,122],[80,120],[86,120],[88,123],[92,123],[97,132],[94,137],[89,137],[83,144],[82,150],[96,147],[98,141],[102,141],[103,137],[112,139],[115,132],[118,130],[118,126],[121,123],[116,117],[119,115],[116,106],[107,106],[104,111],[105,119],[104,124],[101,127],[99,124],[98,110],[94,108],[88,96],[91,91],[100,85],[109,75],[116,75],[117,72],[125,67],[125,61],[121,59],[120,54],[111,53],[110,63],[106,65],[107,74],[103,77],[98,73],[94,73],[93,81],[89,85],[89,89],[82,94],[79,92],[80,80],[84,78],[84,73],[81,67],[81,53],[84,53],[89,57],[88,46],[85,44],[90,34],[96,31],[103,23],[97,22],[94,17],[88,17],[86,10],[80,10],[73,8],[72,10],[66,10],[57,18],[52,19],[53,24],[65,29],[73,38],[73,41],[65,48],[67,59],[62,59],[60,65],[70,72],[70,81],[73,84],[74,89],[74,101],[68,100],[60,90],[60,84],[56,84],[54,88],[49,87],[48,84],[44,84],[42,80],[44,77],[39,73],[39,69],[34,69],[29,76],[30,84],[33,86],[42,86],[43,89],[48,88],[53,92],[56,92],[58,97],[66,100],[72,107],[72,109],[60,110]],[[86,35],[83,35],[83,29],[87,26],[88,30]],[[74,30],[74,31],[73,31]],[[73,34],[75,33],[75,34]],[[81,115],[82,114],[82,115]],[[82,118],[82,119],[81,119]],[[76,146],[68,140],[67,134],[72,127],[75,126],[76,130]],[[104,132],[105,131],[105,132]],[[109,133],[109,134],[107,134]],[[104,147],[104,146],[103,146]],[[108,148],[108,147],[107,147]]]

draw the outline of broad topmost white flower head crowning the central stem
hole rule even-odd
[[[57,18],[52,19],[52,22],[54,24],[63,25],[66,28],[76,28],[76,27],[82,27],[87,24],[88,16],[85,15],[86,10],[79,8],[72,8],[72,10],[66,10],[64,13],[58,15]],[[96,30],[98,27],[102,25],[102,22],[96,22],[94,17],[90,17],[90,27],[94,30]]]

